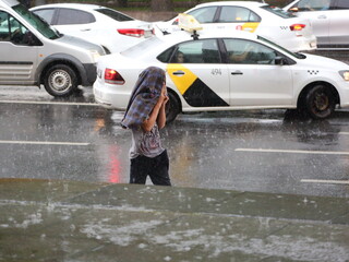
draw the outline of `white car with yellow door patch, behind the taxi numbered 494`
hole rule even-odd
[[[306,19],[253,1],[220,1],[197,4],[184,13],[194,16],[205,31],[246,31],[268,38],[292,50],[313,50],[316,37]],[[157,22],[160,31],[179,31],[178,16],[168,22]]]

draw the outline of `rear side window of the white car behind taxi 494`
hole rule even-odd
[[[218,22],[220,23],[241,23],[260,22],[261,17],[246,8],[222,7]]]

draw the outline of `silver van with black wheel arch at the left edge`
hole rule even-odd
[[[16,0],[0,0],[0,84],[44,84],[52,96],[69,96],[96,80],[95,44],[60,35]]]

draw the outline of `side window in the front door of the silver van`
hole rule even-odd
[[[0,11],[0,41],[28,45],[28,29],[10,14]]]

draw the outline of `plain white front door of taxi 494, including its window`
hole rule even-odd
[[[290,105],[293,97],[289,66],[275,64],[278,53],[248,39],[224,39],[228,57],[231,106]]]

